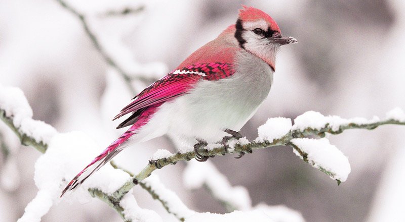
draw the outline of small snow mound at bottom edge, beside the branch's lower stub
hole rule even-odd
[[[138,206],[135,196],[130,190],[123,199],[119,202],[119,205],[124,208],[123,213],[125,219],[140,222],[159,222],[163,221],[162,218],[153,210],[142,209]]]

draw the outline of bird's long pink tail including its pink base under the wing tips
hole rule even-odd
[[[124,123],[131,122],[132,127],[127,130],[123,135],[121,135],[118,139],[116,139],[111,145],[109,145],[100,155],[98,155],[93,161],[87,165],[83,171],[78,173],[72,181],[66,186],[66,188],[62,191],[61,197],[65,194],[66,191],[74,190],[82,184],[87,178],[89,178],[92,174],[94,174],[98,169],[100,169],[105,163],[111,160],[116,154],[118,154],[121,150],[125,148],[123,143],[127,141],[132,135],[136,134],[138,130],[143,127],[151,118],[152,114],[154,114],[157,108],[162,103],[151,105],[139,113],[134,113],[136,115],[131,116],[128,120],[124,121]]]

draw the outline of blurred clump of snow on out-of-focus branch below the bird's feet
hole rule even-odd
[[[183,173],[183,183],[187,189],[198,189],[206,185],[216,199],[230,203],[238,210],[248,210],[252,206],[248,190],[242,186],[232,187],[210,160],[190,160]]]

